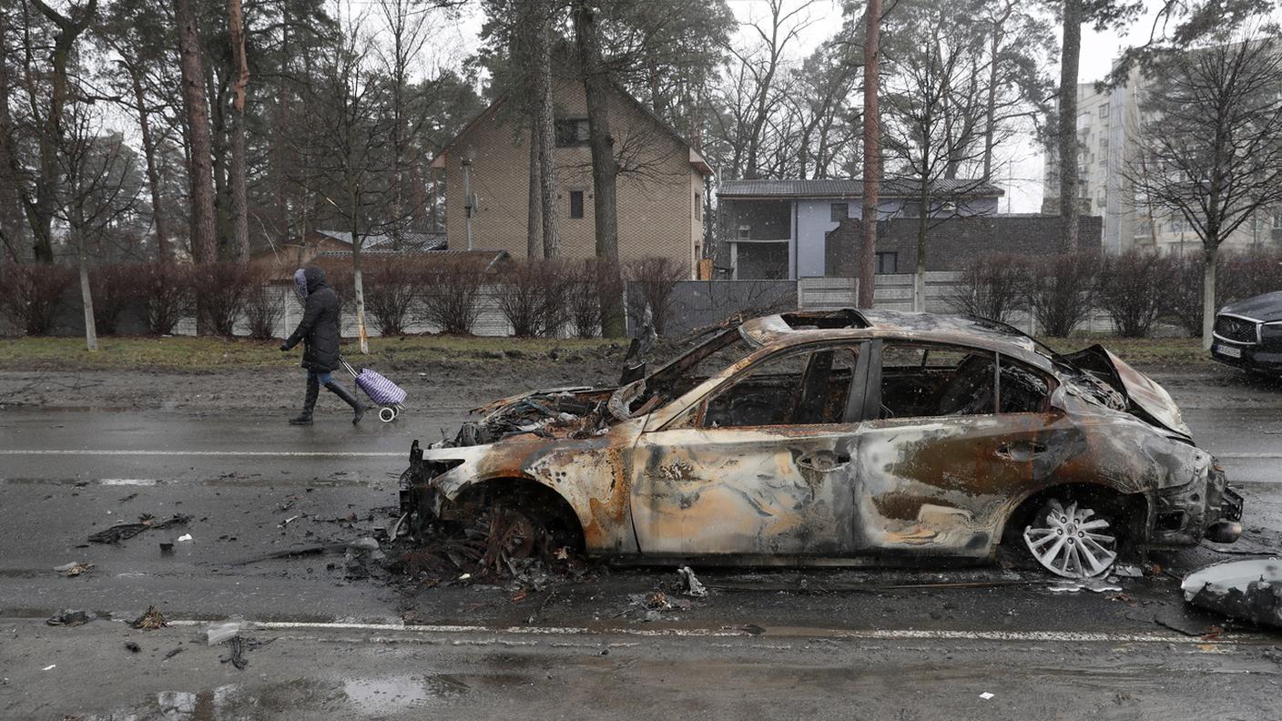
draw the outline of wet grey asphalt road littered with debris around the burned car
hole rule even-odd
[[[1282,402],[1173,391],[1244,489],[1254,531],[1241,548],[1277,550]],[[700,570],[713,595],[651,620],[631,595],[670,590],[670,570],[595,567],[528,593],[353,579],[341,544],[390,521],[409,440],[440,437],[481,400],[356,428],[338,413],[295,428],[265,412],[0,411],[0,717],[1282,716],[1282,638],[1204,638],[1224,621],[1190,612],[1161,576],[1053,593],[999,568]],[[191,521],[87,543],[144,513]],[[340,550],[264,559],[315,544]],[[68,562],[94,567],[53,571]],[[959,585],[915,588],[941,581]],[[117,622],[147,606],[174,626]],[[62,608],[101,618],[45,626]],[[203,640],[233,615],[265,643],[245,670]]]

